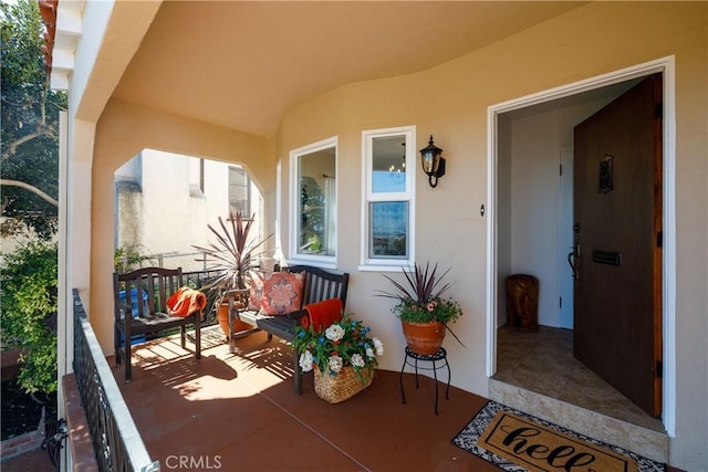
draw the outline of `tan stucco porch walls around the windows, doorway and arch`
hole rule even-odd
[[[72,282],[87,290],[84,302],[92,324],[104,350],[111,353],[113,172],[143,148],[243,164],[266,200],[266,231],[278,225],[280,247],[288,248],[289,151],[337,136],[337,269],[352,274],[347,308],[386,344],[382,368],[396,370],[404,346],[398,322],[391,314],[391,301],[373,296],[383,276],[358,270],[362,132],[414,125],[417,148],[433,134],[447,158],[447,175],[436,189],[427,186],[415,166],[416,259],[452,268],[450,294],[465,311],[455,332],[466,344],[447,344],[452,382],[485,396],[489,241],[488,222],[479,208],[489,204],[488,107],[673,55],[677,231],[665,235],[675,239],[677,248],[675,434],[669,462],[688,470],[708,469],[707,30],[706,2],[592,2],[433,69],[324,93],[288,109],[272,136],[110,99],[95,124],[93,151],[80,153],[94,138],[82,132],[91,125],[74,124],[72,161],[79,177],[73,182],[82,181],[76,179],[83,174],[90,187],[85,191],[76,186],[71,192],[88,199],[90,209],[83,200],[74,204],[90,211],[91,219],[79,221],[86,216],[83,211],[73,214],[79,219],[72,222],[75,229],[90,233],[75,233],[71,248],[90,255],[90,262],[72,258]],[[82,172],[86,161],[90,174]]]

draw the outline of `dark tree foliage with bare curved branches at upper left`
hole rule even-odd
[[[38,2],[2,2],[0,13],[2,214],[48,238],[56,231],[58,208],[50,200],[59,195],[59,112],[66,108],[66,94],[50,87]],[[13,227],[3,228],[3,235]]]

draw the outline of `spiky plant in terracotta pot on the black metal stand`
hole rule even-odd
[[[400,318],[400,325],[408,347],[418,354],[435,354],[442,346],[447,331],[462,342],[450,329],[450,324],[462,316],[459,303],[451,298],[444,298],[442,294],[450,287],[442,283],[442,279],[450,271],[438,275],[438,264],[425,269],[415,264],[413,270],[403,269],[407,284],[400,284],[384,275],[394,285],[393,292],[378,291],[378,296],[395,298],[398,304],[392,308]]]

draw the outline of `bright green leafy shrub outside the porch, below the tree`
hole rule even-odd
[[[56,390],[56,243],[31,241],[2,254],[2,347],[22,348],[19,385],[30,394]]]

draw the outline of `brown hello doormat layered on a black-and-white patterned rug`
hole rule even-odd
[[[509,472],[665,472],[666,464],[489,400],[452,444]]]

